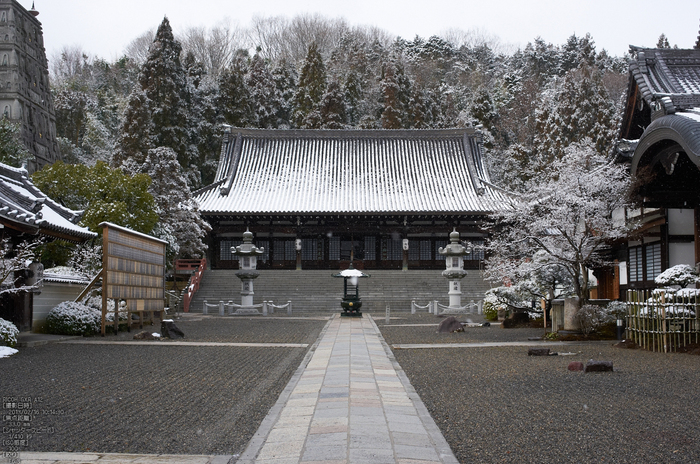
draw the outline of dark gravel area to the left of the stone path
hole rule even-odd
[[[326,322],[231,317],[177,326],[188,342],[310,346]],[[136,332],[92,339],[127,340]],[[2,396],[41,397],[31,426],[54,428],[24,450],[238,454],[308,350],[152,343],[50,344],[0,359]]]

